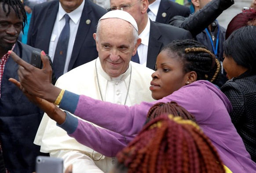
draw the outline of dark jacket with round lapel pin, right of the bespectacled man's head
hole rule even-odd
[[[166,13],[166,16],[164,15],[165,17],[162,16],[163,13]],[[171,18],[173,18],[176,15],[188,17],[189,14],[189,7],[180,5],[170,0],[161,0],[157,12],[156,22],[168,24]]]

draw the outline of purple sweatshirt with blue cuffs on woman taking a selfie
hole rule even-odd
[[[175,101],[194,115],[203,132],[216,147],[224,165],[233,173],[256,173],[256,163],[251,160],[241,137],[231,123],[230,101],[208,81],[196,81],[161,100],[142,102],[131,107],[65,91],[59,107],[103,128],[131,136],[142,129],[151,106],[157,102],[170,101]],[[115,154],[125,146],[124,140],[115,138],[111,131],[98,128],[95,132],[95,127],[68,113],[61,127],[69,136],[106,156]]]

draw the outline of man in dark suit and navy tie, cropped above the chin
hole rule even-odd
[[[27,44],[44,50],[55,63],[55,49],[65,25],[63,16],[69,14],[70,37],[63,73],[68,72],[98,57],[92,35],[96,32],[99,18],[105,13],[105,9],[91,0],[54,0],[36,5]]]

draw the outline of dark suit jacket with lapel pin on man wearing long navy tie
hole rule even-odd
[[[59,0],[38,4],[34,7],[29,25],[28,45],[44,50],[48,54],[51,32],[58,10]],[[85,0],[68,71],[98,57],[96,43],[92,35],[96,32],[99,18],[105,13],[104,8],[91,0]],[[91,21],[90,24],[86,24],[88,19]]]

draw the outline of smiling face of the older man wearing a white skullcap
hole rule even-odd
[[[97,50],[103,70],[110,77],[123,74],[130,63],[132,55],[136,53],[133,36],[133,26],[118,18],[108,18],[100,21]]]

